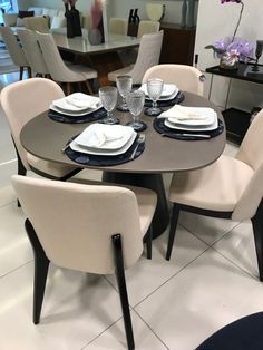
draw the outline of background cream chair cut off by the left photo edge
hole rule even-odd
[[[25,68],[28,71],[28,77],[31,78],[31,68],[30,68],[29,61],[27,60],[27,57],[21,46],[19,45],[13,31],[9,27],[0,26],[0,36],[7,46],[7,49],[9,51],[9,55],[13,64],[20,67],[19,79],[22,80]]]

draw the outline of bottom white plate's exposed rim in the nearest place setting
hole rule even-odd
[[[117,155],[120,155],[120,154],[123,154],[129,149],[129,147],[135,142],[136,136],[137,136],[137,133],[135,130],[133,130],[133,135],[129,138],[129,140],[119,149],[114,149],[114,150],[113,149],[111,150],[109,150],[109,149],[94,149],[94,148],[82,147],[82,146],[78,145],[75,139],[70,143],[69,146],[72,150],[77,150],[77,152],[81,152],[81,153],[86,153],[86,154],[91,154],[91,155],[97,155],[97,156],[117,156]]]

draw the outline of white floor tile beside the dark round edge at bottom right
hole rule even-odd
[[[212,249],[135,310],[169,349],[193,350],[221,327],[263,308],[263,284]]]

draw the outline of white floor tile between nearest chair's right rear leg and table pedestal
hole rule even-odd
[[[164,234],[154,240],[153,259],[145,256],[126,271],[129,303],[132,307],[147,298],[163,283],[176,274],[181,269],[202,254],[207,245],[178,226],[171,261],[165,260],[167,235]],[[107,279],[116,286],[114,276]]]

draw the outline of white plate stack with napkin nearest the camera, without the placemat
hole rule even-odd
[[[130,126],[95,123],[70,143],[70,148],[90,155],[116,156],[127,152],[136,136]]]

